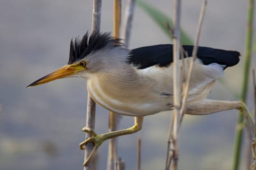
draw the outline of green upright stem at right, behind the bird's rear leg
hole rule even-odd
[[[241,101],[246,102],[247,98],[247,86],[248,76],[251,63],[251,52],[252,52],[252,41],[253,41],[253,17],[254,17],[254,0],[248,0],[248,13],[247,13],[247,32],[246,32],[246,46],[245,46],[245,57],[244,57],[244,74],[243,74],[243,86]],[[243,114],[240,112],[238,116],[237,126],[243,123]],[[242,133],[243,129],[237,128],[236,139],[235,139],[235,150],[233,160],[233,170],[238,170],[240,162],[241,144],[242,144]]]

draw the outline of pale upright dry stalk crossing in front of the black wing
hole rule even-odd
[[[173,84],[174,84],[174,155],[173,170],[178,170],[179,158],[179,126],[180,126],[180,107],[181,107],[181,85],[180,85],[180,19],[181,19],[181,0],[174,0],[174,39],[173,39]]]

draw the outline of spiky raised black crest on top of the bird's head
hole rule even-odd
[[[72,64],[80,59],[85,58],[91,52],[104,48],[107,44],[112,44],[114,47],[123,45],[121,39],[114,38],[110,33],[95,33],[89,37],[88,32],[79,37],[71,39],[68,64]]]

